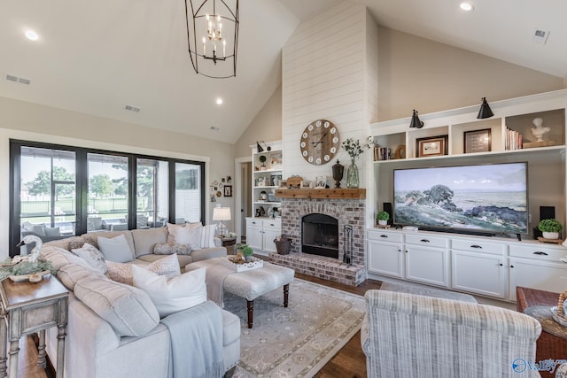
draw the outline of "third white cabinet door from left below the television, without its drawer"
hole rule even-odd
[[[505,258],[485,253],[453,251],[453,289],[489,297],[506,297]]]

